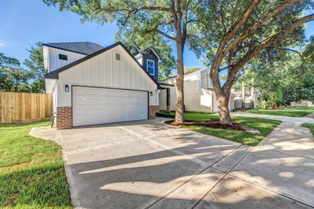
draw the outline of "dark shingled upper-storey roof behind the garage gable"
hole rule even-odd
[[[44,43],[43,46],[63,49],[68,52],[75,52],[84,55],[93,54],[98,52],[100,49],[105,48],[93,42],[50,42]]]

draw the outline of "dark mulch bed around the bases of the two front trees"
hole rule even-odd
[[[174,120],[165,121],[165,123],[169,125],[186,125],[186,126],[202,126],[202,127],[211,127],[211,128],[218,128],[218,129],[226,129],[226,130],[245,130],[246,132],[251,132],[254,134],[260,134],[260,132],[256,129],[250,127],[241,126],[239,123],[232,122],[232,125],[221,124],[219,120],[212,120],[207,122],[195,122],[195,121],[184,121],[184,123],[177,123]]]

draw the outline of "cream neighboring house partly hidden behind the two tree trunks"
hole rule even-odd
[[[177,77],[160,82],[160,110],[175,110]],[[184,75],[184,105],[186,111],[218,112],[213,83],[209,77],[209,68]],[[229,109],[234,109],[233,95],[230,96]]]

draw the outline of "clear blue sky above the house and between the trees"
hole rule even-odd
[[[70,12],[60,12],[40,0],[0,0],[0,52],[22,63],[29,56],[30,45],[41,42],[95,42],[104,47],[114,43],[114,24],[100,26],[94,22],[80,22]],[[306,36],[314,34],[314,22],[306,24]],[[175,52],[174,52],[175,56]],[[186,67],[203,65],[188,49],[184,54]]]

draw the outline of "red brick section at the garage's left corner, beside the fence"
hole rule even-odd
[[[57,107],[57,129],[72,127],[72,107]]]

